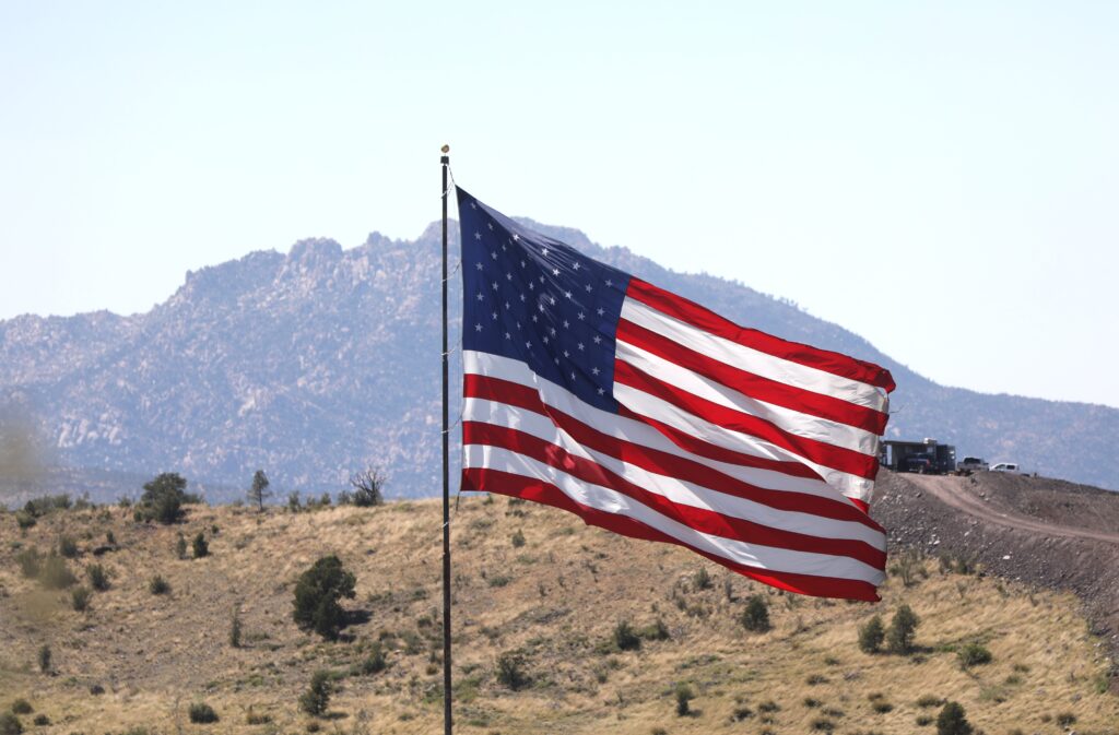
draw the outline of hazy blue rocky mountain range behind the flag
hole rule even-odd
[[[1111,451],[1119,409],[940,386],[788,301],[662,268],[574,229],[526,223],[735,321],[890,368],[899,385],[891,437],[937,437],[961,455],[1012,459],[1046,475],[1119,489]],[[40,462],[96,469],[103,497],[112,497],[105,473],[121,478],[117,494],[138,491],[137,477],[178,471],[211,499],[227,499],[258,468],[278,492],[318,493],[344,489],[351,472],[368,465],[387,470],[389,496],[434,494],[439,232],[432,225],[413,242],[375,233],[351,249],[305,239],[286,255],[252,253],[188,273],[170,299],[143,314],[0,322],[0,415],[21,417]],[[452,338],[457,286],[452,279]],[[946,349],[967,360],[966,348]],[[457,362],[458,352],[452,357]],[[458,396],[458,386],[451,393]],[[458,415],[457,399],[451,411]],[[60,488],[57,472],[20,478],[0,488],[8,499]],[[84,489],[79,477],[65,478],[66,490]]]

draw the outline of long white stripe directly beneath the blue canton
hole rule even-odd
[[[463,350],[463,368],[468,374],[487,375],[502,380],[509,380],[529,388],[533,388],[540,396],[540,401],[549,406],[562,411],[568,416],[574,416],[589,426],[594,426],[599,431],[615,439],[641,444],[649,449],[667,452],[699,464],[704,464],[724,474],[728,474],[736,480],[747,482],[752,486],[767,490],[781,490],[790,492],[803,492],[839,500],[843,498],[835,488],[828,486],[822,479],[801,478],[786,474],[777,470],[765,470],[762,468],[743,467],[730,462],[708,459],[698,454],[693,454],[687,450],[677,446],[670,439],[659,431],[640,421],[624,418],[618,414],[601,411],[594,406],[583,403],[577,396],[568,392],[563,386],[539,377],[523,361],[515,360],[499,355],[478,352],[474,350]],[[624,386],[617,386],[624,387]],[[617,388],[615,387],[615,388]],[[641,394],[645,395],[645,394]],[[463,420],[471,421],[473,417],[464,408]],[[668,422],[665,422],[668,423]],[[694,432],[688,432],[695,436]],[[714,442],[709,442],[714,444]],[[754,441],[751,445],[744,445],[741,440],[735,440],[725,449],[731,449],[740,454],[746,454],[760,459],[802,462],[801,458],[787,452],[780,447],[774,447],[764,442]]]

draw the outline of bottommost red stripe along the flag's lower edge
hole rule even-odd
[[[698,549],[690,544],[681,541],[680,539],[669,536],[668,534],[659,531],[655,528],[650,528],[639,520],[634,520],[626,516],[608,513],[596,508],[590,508],[575,502],[554,484],[540,482],[539,480],[535,480],[533,478],[526,478],[510,472],[502,472],[500,470],[470,468],[462,471],[462,489],[477,492],[497,492],[506,496],[513,496],[515,498],[524,498],[525,500],[532,500],[534,502],[539,502],[545,506],[552,506],[554,508],[560,508],[575,513],[582,518],[584,522],[599,528],[604,528],[614,534],[621,534],[622,536],[629,536],[631,538],[649,541],[661,541],[665,544],[683,546],[695,552],[696,554],[706,556],[712,562],[715,562],[732,572],[758,579],[759,582],[780,590],[787,590],[789,592],[796,592],[805,595],[814,595],[817,597],[864,600],[867,602],[878,602],[881,600],[874,585],[859,579],[822,577],[810,574],[794,574],[792,572],[772,572],[769,569],[759,569],[736,564],[716,554]]]

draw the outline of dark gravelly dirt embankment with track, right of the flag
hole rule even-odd
[[[1119,493],[995,472],[883,472],[872,515],[892,547],[970,557],[998,576],[1075,592],[1092,632],[1119,656]]]

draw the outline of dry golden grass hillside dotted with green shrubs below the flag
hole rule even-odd
[[[179,558],[180,533],[203,533],[209,556]],[[64,536],[76,540],[66,564],[82,584],[92,564],[109,572],[85,612],[17,562]],[[109,507],[53,512],[26,530],[9,512],[0,539],[0,707],[26,699],[26,732],[441,732],[438,502],[299,513],[189,506],[172,526]],[[460,733],[933,733],[943,699],[988,735],[1119,733],[1107,649],[1069,594],[928,558],[900,564],[877,605],[781,595],[681,549],[506,498],[463,499],[452,544]],[[357,577],[337,642],[301,632],[291,615],[295,579],[330,553]],[[169,593],[150,592],[156,575]],[[770,605],[769,632],[740,623],[752,594]],[[888,623],[902,603],[921,619],[918,651],[862,652],[857,628],[875,613]],[[241,648],[229,644],[235,609]],[[620,621],[645,633],[638,650],[617,648]],[[667,640],[651,634],[658,621]],[[376,641],[387,668],[366,672]],[[991,661],[962,668],[968,642]],[[496,673],[507,651],[528,677],[516,691]],[[298,698],[319,669],[337,691],[327,716],[311,718]],[[686,716],[679,684],[695,694]],[[194,703],[219,722],[190,723]],[[32,724],[39,716],[49,724]]]

